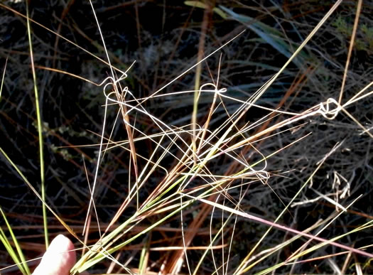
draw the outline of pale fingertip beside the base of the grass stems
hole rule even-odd
[[[76,262],[74,244],[62,234],[53,239],[33,275],[68,275]]]

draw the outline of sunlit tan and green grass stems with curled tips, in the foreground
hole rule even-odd
[[[313,179],[315,175],[320,173],[320,170],[325,166],[325,163],[333,157],[334,154],[341,150],[344,140],[336,140],[333,147],[323,156],[308,164],[308,168],[312,169],[305,176],[305,179],[298,183],[298,188],[291,198],[283,200],[281,195],[277,195],[276,190],[271,187],[273,178],[281,178],[286,174],[286,171],[276,171],[269,163],[273,158],[276,158],[281,153],[291,151],[293,146],[306,143],[310,136],[313,135],[308,131],[308,125],[314,121],[321,120],[323,122],[333,122],[339,119],[340,116],[345,116],[362,131],[362,139],[371,139],[373,136],[369,129],[365,127],[358,119],[348,111],[348,108],[366,100],[372,95],[369,89],[373,82],[363,87],[350,98],[345,96],[345,83],[347,81],[347,72],[352,54],[352,49],[355,41],[355,34],[360,16],[362,1],[358,1],[355,24],[350,38],[350,48],[347,54],[347,62],[345,64],[345,72],[342,75],[342,87],[337,98],[328,97],[323,102],[319,102],[313,106],[308,106],[300,112],[289,111],[284,107],[286,99],[293,90],[298,89],[301,82],[307,75],[314,70],[313,68],[301,68],[300,76],[293,83],[293,86],[288,90],[286,95],[277,102],[276,107],[268,107],[260,104],[261,98],[270,89],[272,85],[285,72],[288,65],[291,63],[297,66],[302,65],[304,58],[303,50],[308,45],[309,41],[315,33],[328,21],[328,18],[335,12],[341,4],[341,0],[336,1],[325,16],[320,20],[317,26],[313,28],[308,36],[304,39],[298,48],[290,53],[284,50],[285,44],[281,39],[277,39],[278,33],[268,33],[269,28],[264,24],[257,23],[249,25],[252,31],[258,33],[261,38],[267,43],[271,43],[277,50],[287,56],[286,63],[274,74],[264,85],[262,85],[253,95],[242,99],[242,97],[234,97],[229,93],[229,88],[222,87],[220,83],[220,67],[222,65],[222,55],[220,54],[232,41],[235,41],[242,33],[229,39],[220,47],[215,48],[211,53],[205,53],[205,32],[207,31],[207,20],[211,14],[218,14],[225,20],[240,21],[244,26],[248,24],[249,18],[240,16],[232,10],[224,6],[212,8],[205,2],[187,1],[185,4],[195,7],[195,9],[204,9],[204,22],[202,25],[202,35],[200,36],[199,53],[197,61],[180,75],[163,85],[160,89],[152,92],[146,97],[137,97],[136,92],[131,91],[126,86],[126,78],[131,75],[131,66],[126,70],[121,70],[112,64],[112,57],[105,45],[105,38],[102,34],[99,18],[97,18],[94,6],[92,12],[99,30],[102,49],[106,58],[98,58],[89,51],[86,53],[93,55],[104,63],[109,68],[110,75],[102,82],[94,82],[87,80],[78,75],[69,72],[56,70],[54,68],[46,68],[34,64],[33,47],[32,47],[32,32],[31,23],[38,22],[31,20],[28,14],[22,15],[16,11],[18,16],[23,16],[27,19],[28,26],[28,42],[31,56],[31,67],[33,72],[33,86],[36,99],[36,114],[37,114],[37,129],[39,141],[39,156],[40,156],[40,190],[33,187],[29,183],[26,176],[16,163],[6,154],[6,149],[0,148],[7,163],[15,169],[21,178],[25,181],[29,188],[35,193],[39,200],[43,203],[43,226],[45,234],[45,246],[48,247],[48,210],[55,216],[61,225],[70,233],[71,237],[79,244],[82,249],[82,255],[75,266],[71,269],[70,274],[79,274],[82,271],[92,269],[92,266],[97,266],[102,261],[110,262],[109,271],[111,273],[116,266],[119,270],[126,274],[150,274],[151,265],[149,262],[149,253],[153,250],[168,251],[168,257],[163,258],[160,272],[162,274],[179,274],[180,272],[188,271],[189,274],[202,274],[207,271],[202,271],[202,266],[205,261],[212,260],[212,274],[245,274],[247,272],[256,272],[256,274],[270,274],[276,270],[280,270],[286,266],[296,266],[307,261],[318,261],[320,259],[331,259],[340,255],[348,256],[345,263],[350,261],[351,255],[359,256],[364,261],[373,258],[372,252],[369,252],[367,247],[350,247],[343,244],[345,238],[350,237],[353,233],[369,230],[372,222],[364,222],[359,227],[339,234],[336,237],[327,239],[320,237],[320,234],[327,230],[330,225],[335,222],[341,215],[345,215],[350,211],[350,207],[360,199],[359,196],[352,202],[345,204],[340,203],[337,199],[330,198],[329,195],[319,193],[320,199],[325,199],[333,207],[333,211],[328,217],[318,220],[313,225],[310,225],[304,230],[294,229],[291,225],[283,225],[283,217],[291,213],[291,207],[300,205],[301,195],[306,190],[312,189]],[[26,1],[27,3],[27,1]],[[27,5],[26,5],[27,6]],[[1,7],[6,7],[1,4]],[[11,10],[11,8],[6,7]],[[43,25],[40,25],[42,26]],[[45,28],[45,27],[43,27]],[[81,48],[79,45],[67,40],[58,32],[54,33],[60,39],[63,39],[73,45]],[[202,64],[207,62],[209,58],[220,56],[217,66],[217,75],[211,75],[210,82],[201,80]],[[85,203],[87,207],[87,215],[82,229],[84,237],[78,235],[69,222],[64,221],[60,217],[58,211],[53,205],[48,203],[45,193],[45,171],[44,171],[44,153],[43,153],[43,121],[40,117],[40,100],[38,98],[38,80],[36,77],[36,68],[45,71],[60,72],[64,75],[77,77],[80,80],[90,82],[102,89],[105,102],[103,103],[104,117],[102,122],[102,132],[99,136],[97,158],[94,159],[96,166],[94,171],[85,171],[87,174],[87,189],[90,193],[90,199]],[[180,92],[168,92],[168,87],[178,81],[185,75],[195,73],[195,88]],[[6,77],[6,67],[1,81],[1,90]],[[187,122],[180,126],[177,121],[166,122],[167,119],[162,119],[153,114],[148,106],[151,102],[156,102],[158,99],[177,99],[193,98],[193,108]],[[202,102],[203,99],[203,102]],[[150,102],[150,103],[149,103]],[[233,103],[232,103],[233,102]],[[232,108],[234,107],[234,108]],[[249,114],[253,112],[265,112],[266,114],[261,119],[256,119],[254,122],[247,122]],[[109,121],[114,115],[114,121]],[[151,131],[144,130],[144,127],[138,121],[147,121],[151,124]],[[126,133],[126,139],[117,141],[114,138],[114,133],[119,125],[123,126],[122,131]],[[304,131],[299,131],[304,129]],[[299,134],[301,133],[301,134]],[[260,147],[262,144],[269,143],[273,139],[281,136],[288,136],[289,140],[283,146],[271,145],[271,151],[266,150],[262,153]],[[141,148],[144,144],[148,145],[148,149]],[[117,208],[114,215],[107,224],[102,225],[100,222],[99,211],[97,211],[97,197],[105,188],[99,175],[102,165],[106,161],[107,155],[120,149],[124,151],[128,158],[128,183],[126,194],[123,195],[121,205]],[[83,159],[84,161],[84,159]],[[161,176],[160,176],[161,175]],[[92,177],[91,177],[92,176]],[[93,178],[90,180],[90,178]],[[149,187],[150,183],[156,179],[156,186]],[[258,184],[259,183],[259,184]],[[250,193],[251,186],[261,186],[270,190],[271,193],[278,197],[281,211],[276,214],[271,220],[269,216],[264,217],[255,215],[253,212],[247,211],[245,205],[245,197]],[[344,191],[346,195],[348,190]],[[146,194],[146,195],[144,195]],[[337,197],[335,197],[337,198]],[[341,197],[339,197],[341,198]],[[303,202],[303,204],[306,204]],[[0,208],[1,210],[1,208]],[[23,257],[21,248],[16,240],[11,229],[11,225],[6,220],[6,215],[1,210],[1,213],[6,221],[7,230],[12,237],[12,243],[16,247],[13,250],[13,245],[9,242],[3,230],[0,231],[0,240],[6,246],[6,250],[11,255],[11,258],[18,265],[23,274],[30,274],[30,270]],[[192,213],[193,219],[187,218],[187,214]],[[217,215],[220,215],[220,222],[216,223]],[[123,218],[125,217],[124,221]],[[169,247],[153,247],[151,245],[151,234],[157,228],[168,224],[171,220],[180,221],[180,239],[177,245]],[[210,222],[208,222],[210,219]],[[97,227],[94,227],[94,220],[97,222]],[[247,249],[247,254],[240,257],[234,254],[238,245],[239,239],[237,235],[237,224],[239,221],[255,223],[258,226],[265,228],[262,234],[256,239],[252,247]],[[152,223],[149,223],[152,221]],[[210,225],[207,225],[207,224]],[[207,244],[202,244],[199,247],[195,246],[193,240],[198,236],[199,230],[207,226],[208,236],[210,240]],[[98,237],[90,239],[92,230],[96,231]],[[268,247],[267,239],[273,232],[285,232],[286,239],[279,244]],[[92,244],[92,241],[94,242]],[[264,243],[266,243],[264,245]],[[299,245],[301,243],[301,245]],[[121,259],[121,252],[127,247],[135,244],[141,244],[141,254],[139,254],[138,267],[130,267]],[[298,249],[287,254],[283,259],[279,255],[286,251],[291,245],[296,245]],[[140,246],[140,247],[141,247]],[[327,253],[325,247],[333,247],[333,251],[338,249],[340,252]],[[193,256],[193,251],[202,251],[198,261]],[[320,252],[317,257],[315,252]],[[192,255],[192,256],[191,256]],[[242,255],[241,255],[242,256]],[[276,258],[277,257],[277,258]],[[234,263],[232,259],[234,258]],[[273,259],[276,258],[276,261]],[[271,259],[271,260],[270,260]],[[271,261],[271,266],[266,266],[265,263]],[[332,261],[332,260],[330,260]],[[357,263],[357,261],[355,261]],[[238,264],[237,264],[238,263]],[[158,263],[159,264],[159,263]],[[266,266],[265,268],[263,266]],[[357,264],[357,266],[359,266]],[[346,270],[345,266],[342,270]]]

